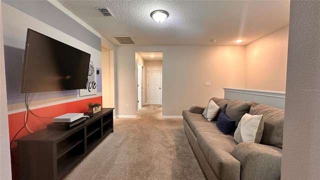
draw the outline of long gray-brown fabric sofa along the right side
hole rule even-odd
[[[189,143],[207,179],[280,179],[284,110],[253,101],[211,98],[230,119],[245,113],[263,115],[260,143],[240,142],[223,134],[216,119],[201,114],[205,107],[183,110],[183,126]]]

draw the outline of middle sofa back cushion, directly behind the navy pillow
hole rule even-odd
[[[235,126],[238,125],[241,117],[248,113],[251,105],[257,104],[253,101],[242,101],[242,100],[230,100],[226,105],[225,115],[232,120],[235,120]]]

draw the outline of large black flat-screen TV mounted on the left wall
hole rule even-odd
[[[21,92],[83,89],[90,54],[27,29]]]

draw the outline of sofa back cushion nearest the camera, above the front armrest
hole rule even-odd
[[[252,105],[251,115],[262,114],[264,128],[260,143],[282,148],[284,110],[264,104]]]

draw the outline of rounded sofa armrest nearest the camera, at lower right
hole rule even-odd
[[[241,142],[231,152],[241,164],[240,179],[280,179],[282,149]]]

